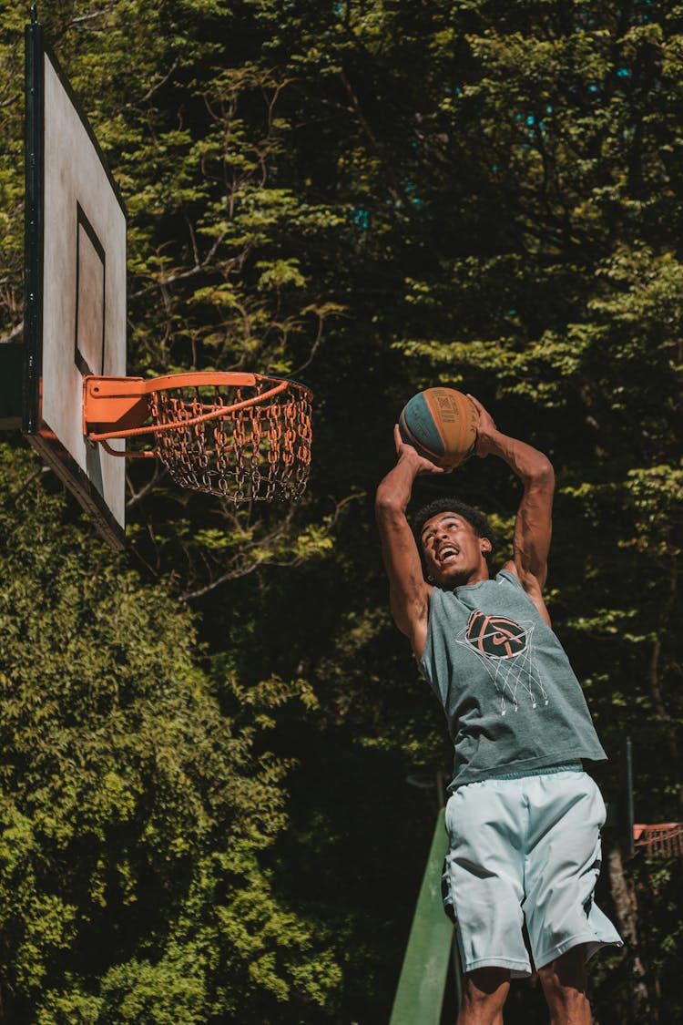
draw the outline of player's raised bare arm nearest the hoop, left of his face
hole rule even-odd
[[[440,474],[442,470],[418,455],[411,445],[405,445],[397,427],[394,440],[398,460],[377,489],[375,510],[389,577],[391,613],[419,658],[427,639],[431,587],[422,574],[420,554],[405,509],[418,474]]]

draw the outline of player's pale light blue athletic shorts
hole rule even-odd
[[[604,820],[600,791],[580,770],[488,779],[453,793],[443,893],[463,971],[497,966],[530,975],[524,922],[537,969],[580,943],[587,958],[622,946],[593,900]]]

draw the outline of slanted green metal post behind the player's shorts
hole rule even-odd
[[[389,1025],[439,1025],[454,928],[441,903],[447,848],[444,811],[436,819]],[[455,1015],[454,1015],[455,1018]]]

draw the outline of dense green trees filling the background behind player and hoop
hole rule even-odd
[[[0,335],[20,336],[23,26],[2,4]],[[549,598],[637,818],[681,813],[683,24],[665,0],[43,0],[129,209],[129,372],[315,395],[296,506],[134,465],[114,557],[2,448],[0,1020],[388,1019],[447,773],[391,624],[374,489],[422,386],[558,479]],[[493,517],[500,463],[425,481]],[[627,868],[651,1020],[676,863]],[[609,906],[607,878],[600,898]],[[630,955],[629,955],[630,956]],[[596,1020],[642,1021],[633,962]],[[533,987],[510,1021],[543,1021]],[[635,1017],[634,1017],[635,1016]]]

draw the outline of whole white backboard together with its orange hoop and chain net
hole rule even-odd
[[[19,427],[115,547],[125,463],[232,502],[295,499],[311,400],[295,381],[218,371],[126,376],[127,213],[37,20],[26,27],[25,309],[0,345],[0,427]]]

